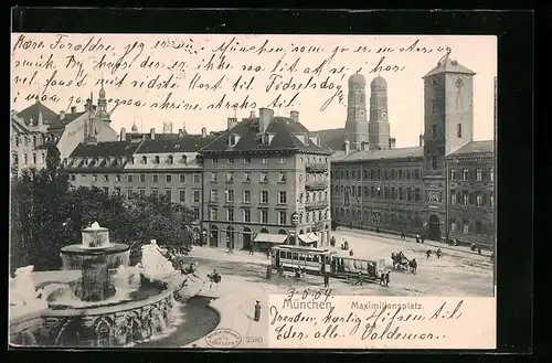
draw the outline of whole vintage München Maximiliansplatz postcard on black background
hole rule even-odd
[[[497,39],[11,35],[12,348],[495,349]]]

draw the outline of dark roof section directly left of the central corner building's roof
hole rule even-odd
[[[159,140],[144,140],[136,153],[198,152],[214,139],[213,136],[184,135]]]

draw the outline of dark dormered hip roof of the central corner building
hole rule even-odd
[[[266,134],[274,135],[273,140],[269,145],[264,145],[258,141],[258,117],[242,119],[232,129],[224,131],[213,142],[203,148],[202,152],[222,152],[222,151],[277,151],[277,150],[297,150],[306,152],[322,152],[326,154],[331,154],[331,150],[328,146],[321,143],[317,146],[310,139],[308,143],[304,143],[298,139],[296,135],[309,135],[316,136],[300,122],[294,121],[288,117],[273,117],[268,127],[266,128]],[[229,146],[229,138],[232,135],[240,136],[236,145]]]

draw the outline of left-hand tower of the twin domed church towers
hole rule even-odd
[[[361,150],[368,138],[367,120],[367,79],[357,73],[349,77],[347,99],[346,139],[351,150]]]

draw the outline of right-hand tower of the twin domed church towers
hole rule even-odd
[[[370,83],[370,150],[390,148],[388,117],[388,82],[378,76]]]

